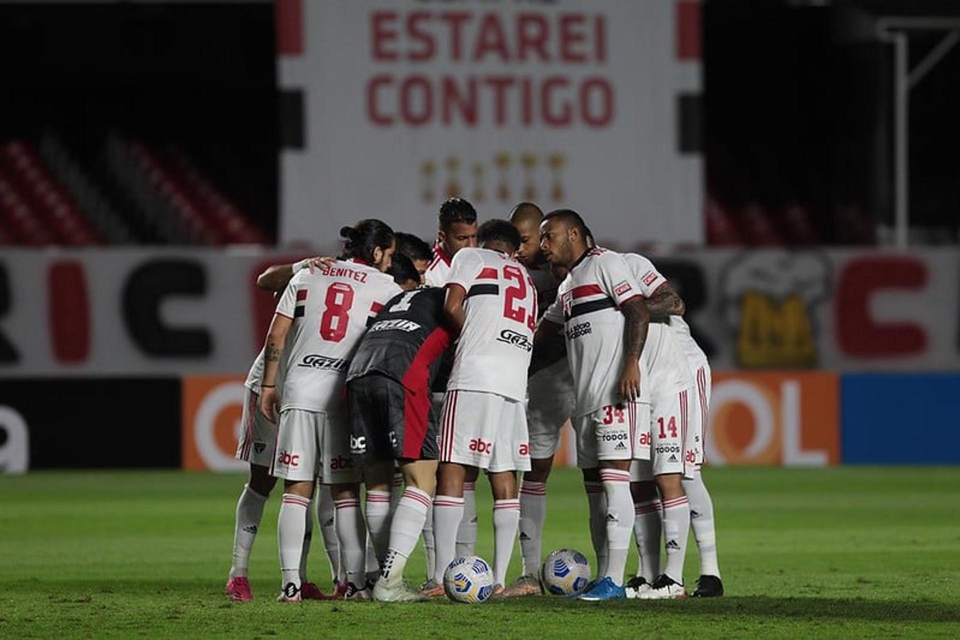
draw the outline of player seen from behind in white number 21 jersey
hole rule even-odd
[[[443,582],[444,570],[456,556],[468,468],[485,469],[493,492],[497,594],[503,590],[519,523],[515,474],[530,470],[524,400],[537,295],[514,258],[516,228],[492,220],[478,236],[483,248],[458,251],[446,283],[444,314],[459,341],[441,416],[434,580]]]

